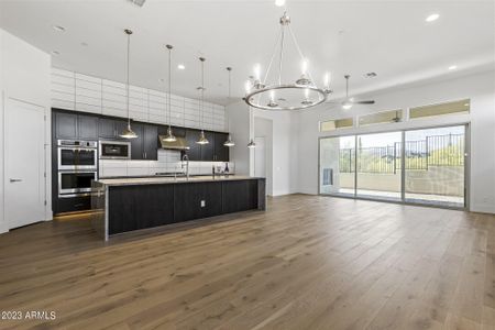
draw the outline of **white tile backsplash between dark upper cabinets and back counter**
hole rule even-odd
[[[212,166],[226,167],[224,162],[189,162],[189,175],[211,174]],[[183,172],[180,152],[158,150],[158,161],[100,160],[99,177],[147,176],[162,172]],[[229,162],[229,173],[235,172],[235,164]]]

